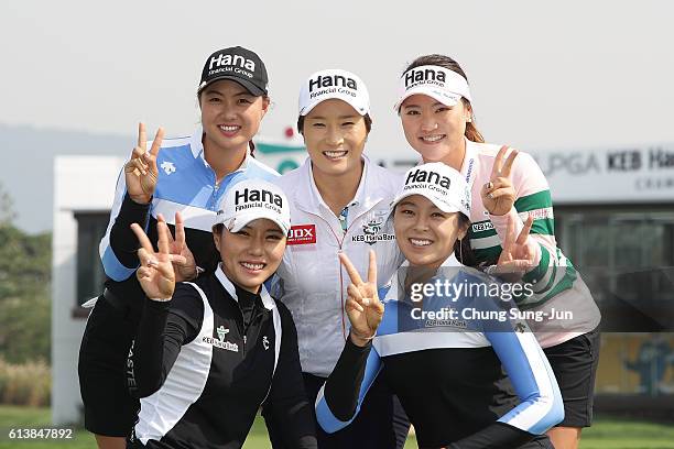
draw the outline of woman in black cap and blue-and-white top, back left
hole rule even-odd
[[[138,145],[118,178],[100,242],[106,289],[87,320],[79,352],[85,427],[96,435],[100,448],[124,447],[139,406],[129,394],[134,385],[127,358],[143,294],[133,275],[138,240],[129,226],[140,223],[156,242],[157,217],[163,213],[172,228],[175,225],[171,252],[184,262],[175,266],[178,280],[213,273],[219,258],[210,225],[225,191],[241,179],[278,176],[249,151],[270,102],[267,68],[256,53],[237,46],[211,54],[197,98],[202,123],[194,134],[164,140],[160,129],[149,144],[141,123]]]

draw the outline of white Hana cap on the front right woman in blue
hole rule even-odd
[[[443,212],[461,212],[470,218],[470,187],[464,176],[443,164],[417,165],[405,173],[405,184],[391,202],[391,211],[402,199],[412,195],[428,198]]]

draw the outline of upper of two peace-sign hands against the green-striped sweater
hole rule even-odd
[[[513,149],[508,155],[506,163],[503,163],[507,151],[508,146],[501,146],[493,162],[489,183],[485,184],[480,190],[485,209],[494,216],[508,213],[515,200],[515,191],[510,179],[510,172],[518,156],[518,151]]]

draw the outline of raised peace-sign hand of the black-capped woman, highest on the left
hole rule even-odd
[[[138,124],[138,145],[131,152],[131,158],[124,165],[124,180],[131,199],[141,205],[150,202],[159,177],[156,155],[162,146],[164,129],[156,130],[152,147],[148,152],[145,124]]]

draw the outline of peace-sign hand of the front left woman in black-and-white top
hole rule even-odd
[[[132,223],[131,229],[141,244],[138,250],[140,266],[135,271],[135,276],[140,282],[145,295],[155,300],[168,300],[175,289],[175,273],[173,272],[173,261],[185,262],[182,255],[170,253],[168,249],[168,227],[166,222],[156,223],[159,234],[159,252],[154,252],[150,239],[138,223]]]

